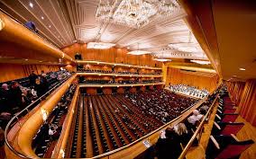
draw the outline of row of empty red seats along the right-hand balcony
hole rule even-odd
[[[206,148],[206,158],[239,158],[242,152],[254,143],[251,139],[241,141],[235,137],[244,126],[242,122],[235,122],[238,117],[235,111],[235,104],[225,88],[221,94],[214,128]]]

